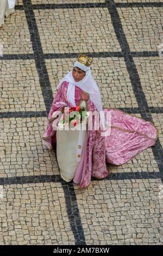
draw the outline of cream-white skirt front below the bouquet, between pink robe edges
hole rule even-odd
[[[80,104],[85,107],[85,101]],[[77,149],[78,149],[78,130],[58,130],[57,131],[57,160],[60,169],[61,178],[67,182],[73,180],[78,167]],[[82,149],[84,148],[86,130],[83,130]]]

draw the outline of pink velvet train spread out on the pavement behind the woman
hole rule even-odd
[[[106,162],[120,165],[155,144],[157,130],[152,123],[118,109],[111,113],[111,133],[105,137]]]

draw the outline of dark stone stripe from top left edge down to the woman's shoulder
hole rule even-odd
[[[43,56],[40,35],[37,28],[34,11],[31,0],[23,0],[23,7],[26,14],[28,29],[30,33],[30,41],[32,42],[36,69],[39,75],[40,86],[42,90],[43,100],[45,102],[46,111],[49,113],[53,101],[53,92],[49,81],[46,68],[45,58]]]

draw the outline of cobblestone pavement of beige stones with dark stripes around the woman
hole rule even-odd
[[[163,244],[162,18],[162,0],[18,0],[0,28],[1,245]],[[103,106],[152,121],[159,139],[79,190],[41,136],[83,52]]]

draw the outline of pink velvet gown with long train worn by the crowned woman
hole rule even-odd
[[[56,143],[56,131],[52,127],[54,111],[64,106],[73,107],[67,99],[67,87],[68,82],[61,84],[48,115],[48,125],[42,139],[46,141],[49,149]],[[76,86],[76,105],[81,100],[82,92],[82,89]],[[89,111],[97,111],[90,99],[87,101],[87,106]],[[87,131],[82,159],[73,179],[75,183],[80,184],[81,188],[90,184],[91,176],[103,179],[109,175],[106,162],[115,165],[126,163],[141,151],[153,146],[158,136],[155,126],[146,120],[115,108],[104,109],[104,111],[111,114],[111,132],[109,136],[103,137],[100,131]]]

